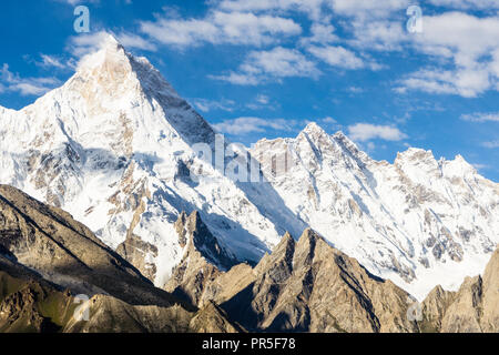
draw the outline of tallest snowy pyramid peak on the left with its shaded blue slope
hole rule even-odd
[[[198,210],[241,260],[258,261],[288,229],[299,235],[304,224],[269,184],[225,178],[197,143],[215,144],[210,124],[109,37],[63,87],[0,109],[0,182],[69,211],[112,247],[130,233],[156,246],[145,257],[159,286],[183,256],[173,226],[182,211]]]

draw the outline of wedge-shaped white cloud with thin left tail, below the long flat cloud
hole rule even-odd
[[[288,77],[317,78],[315,63],[294,49],[276,47],[269,51],[253,51],[240,65],[238,72],[211,77],[234,84],[254,85],[263,81]]]

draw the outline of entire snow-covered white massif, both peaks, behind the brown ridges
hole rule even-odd
[[[203,255],[212,265],[255,264],[309,225],[418,298],[479,274],[499,242],[498,184],[461,158],[410,149],[376,162],[310,124],[294,140],[258,142],[258,182],[241,182],[227,171],[246,152],[228,148],[111,37],[63,87],[20,111],[0,108],[0,183],[68,211],[160,287],[195,254],[179,237],[183,211],[198,211],[224,251]]]

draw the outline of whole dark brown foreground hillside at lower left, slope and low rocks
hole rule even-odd
[[[67,212],[0,185],[0,333],[203,331],[242,328],[154,287]]]

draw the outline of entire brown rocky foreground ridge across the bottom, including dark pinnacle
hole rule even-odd
[[[161,290],[133,235],[120,256],[68,213],[0,185],[0,332],[499,332],[499,250],[482,276],[419,305],[313,230],[248,265],[196,212],[175,226],[184,257]]]

